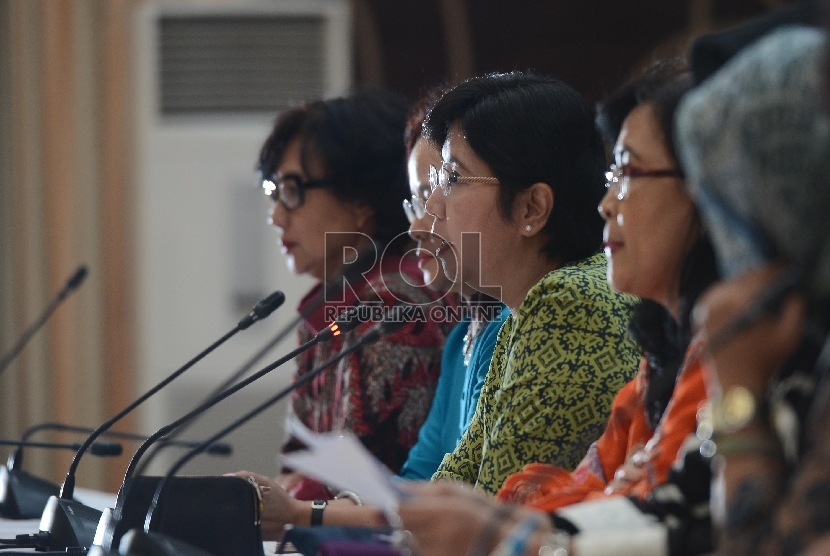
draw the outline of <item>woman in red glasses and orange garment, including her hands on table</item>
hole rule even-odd
[[[680,61],[655,64],[604,102],[598,117],[606,140],[615,143],[599,205],[608,280],[615,290],[643,298],[629,326],[645,355],[638,376],[617,394],[605,432],[573,472],[540,460],[509,476],[499,501],[436,485],[405,503],[404,524],[425,553],[481,555],[498,546],[492,553],[503,554],[510,543],[523,547],[513,554],[668,549],[667,527],[628,497],[649,499],[669,480],[706,398],[703,345],[692,340],[690,315],[717,273],[674,154],[672,117],[691,86],[684,70]],[[679,490],[671,501],[674,511],[691,507]],[[654,527],[643,530],[644,524]],[[695,542],[686,548],[710,547],[705,534]]]

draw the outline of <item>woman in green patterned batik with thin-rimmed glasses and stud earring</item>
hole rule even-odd
[[[448,91],[424,130],[442,146],[426,210],[444,272],[510,308],[475,415],[433,479],[495,494],[533,462],[573,469],[637,370],[634,298],[599,253],[605,152],[568,85],[520,72]]]

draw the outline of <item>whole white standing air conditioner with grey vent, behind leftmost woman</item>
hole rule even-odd
[[[314,285],[280,259],[266,224],[268,203],[252,185],[254,163],[279,112],[349,92],[353,28],[350,0],[133,4],[139,388],[161,381],[171,361],[186,361],[207,338],[231,329],[242,306],[249,310],[254,299],[275,288],[289,299],[281,311],[212,354],[191,378],[182,377],[181,390],[165,389],[148,400],[141,428],[156,430],[270,342],[294,318],[289,306]],[[287,353],[294,342],[294,336],[286,338],[269,357]],[[262,388],[281,388],[288,375],[275,373],[274,382]],[[237,409],[259,403],[235,399],[241,405],[220,404],[216,421],[206,415],[201,430],[218,430],[215,423],[229,423],[239,416]],[[273,414],[260,418],[252,432],[229,438],[234,455],[218,465],[276,473],[279,421]],[[257,447],[250,442],[257,435],[274,443]],[[244,446],[260,448],[263,459],[254,459]],[[168,469],[174,456],[162,452],[150,472]],[[211,465],[217,463],[198,458],[187,472],[215,474]]]

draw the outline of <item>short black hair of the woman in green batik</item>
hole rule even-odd
[[[442,145],[456,122],[499,179],[505,220],[512,220],[516,196],[534,183],[553,189],[553,212],[543,229],[545,256],[568,263],[599,250],[605,150],[582,95],[563,81],[532,73],[475,77],[441,97],[424,133]]]

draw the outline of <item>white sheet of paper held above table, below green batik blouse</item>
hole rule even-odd
[[[286,466],[340,490],[350,490],[364,504],[396,513],[405,493],[394,475],[349,432],[315,433],[298,419],[288,421],[288,433],[308,450],[283,455]]]

